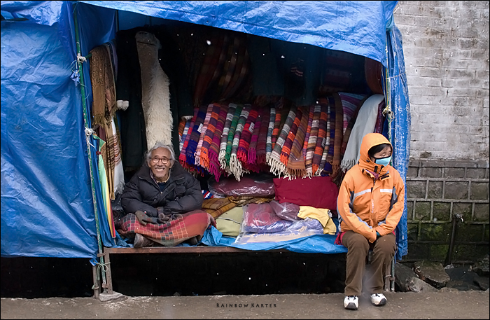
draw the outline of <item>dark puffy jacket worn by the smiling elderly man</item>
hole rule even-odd
[[[148,216],[157,217],[158,207],[162,207],[160,212],[165,214],[183,214],[201,209],[203,200],[199,181],[176,161],[163,191],[151,178],[150,167],[145,163],[126,183],[121,204],[126,214],[141,210]]]

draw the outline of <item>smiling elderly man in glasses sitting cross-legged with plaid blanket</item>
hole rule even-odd
[[[126,183],[118,221],[121,235],[134,237],[134,247],[197,244],[214,218],[201,210],[200,183],[175,160],[172,146],[157,143],[146,163]]]

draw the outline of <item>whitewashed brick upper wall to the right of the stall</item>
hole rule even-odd
[[[399,1],[412,159],[489,162],[489,2]]]

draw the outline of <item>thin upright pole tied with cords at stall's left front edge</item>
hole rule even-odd
[[[76,39],[76,53],[77,57],[81,56],[81,49],[80,49],[80,34],[78,30],[78,19],[76,15],[76,4],[73,4],[73,21],[75,23],[75,39]],[[82,93],[82,106],[83,106],[83,120],[84,120],[84,126],[88,126],[88,117],[87,117],[87,102],[86,102],[86,96],[85,96],[85,81],[83,81],[83,65],[82,62],[80,62],[77,59],[78,62],[78,72],[80,74],[80,90]],[[93,176],[93,165],[92,165],[92,153],[90,151],[90,144],[87,144],[87,153],[88,153],[88,163],[90,166],[90,181],[92,182],[92,199],[94,203],[94,216],[95,216],[95,227],[97,230],[97,244],[99,246],[99,253],[102,253],[102,240],[100,237],[100,230],[99,230],[99,214],[97,212],[97,198],[95,195],[95,183],[94,183],[94,176]],[[100,263],[104,264],[104,257],[100,257]],[[101,268],[102,270],[102,282],[106,284],[106,272],[104,271],[104,268]]]

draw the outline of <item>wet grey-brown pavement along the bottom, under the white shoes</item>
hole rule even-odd
[[[489,290],[385,292],[344,309],[342,293],[94,298],[1,298],[1,319],[489,319]]]

